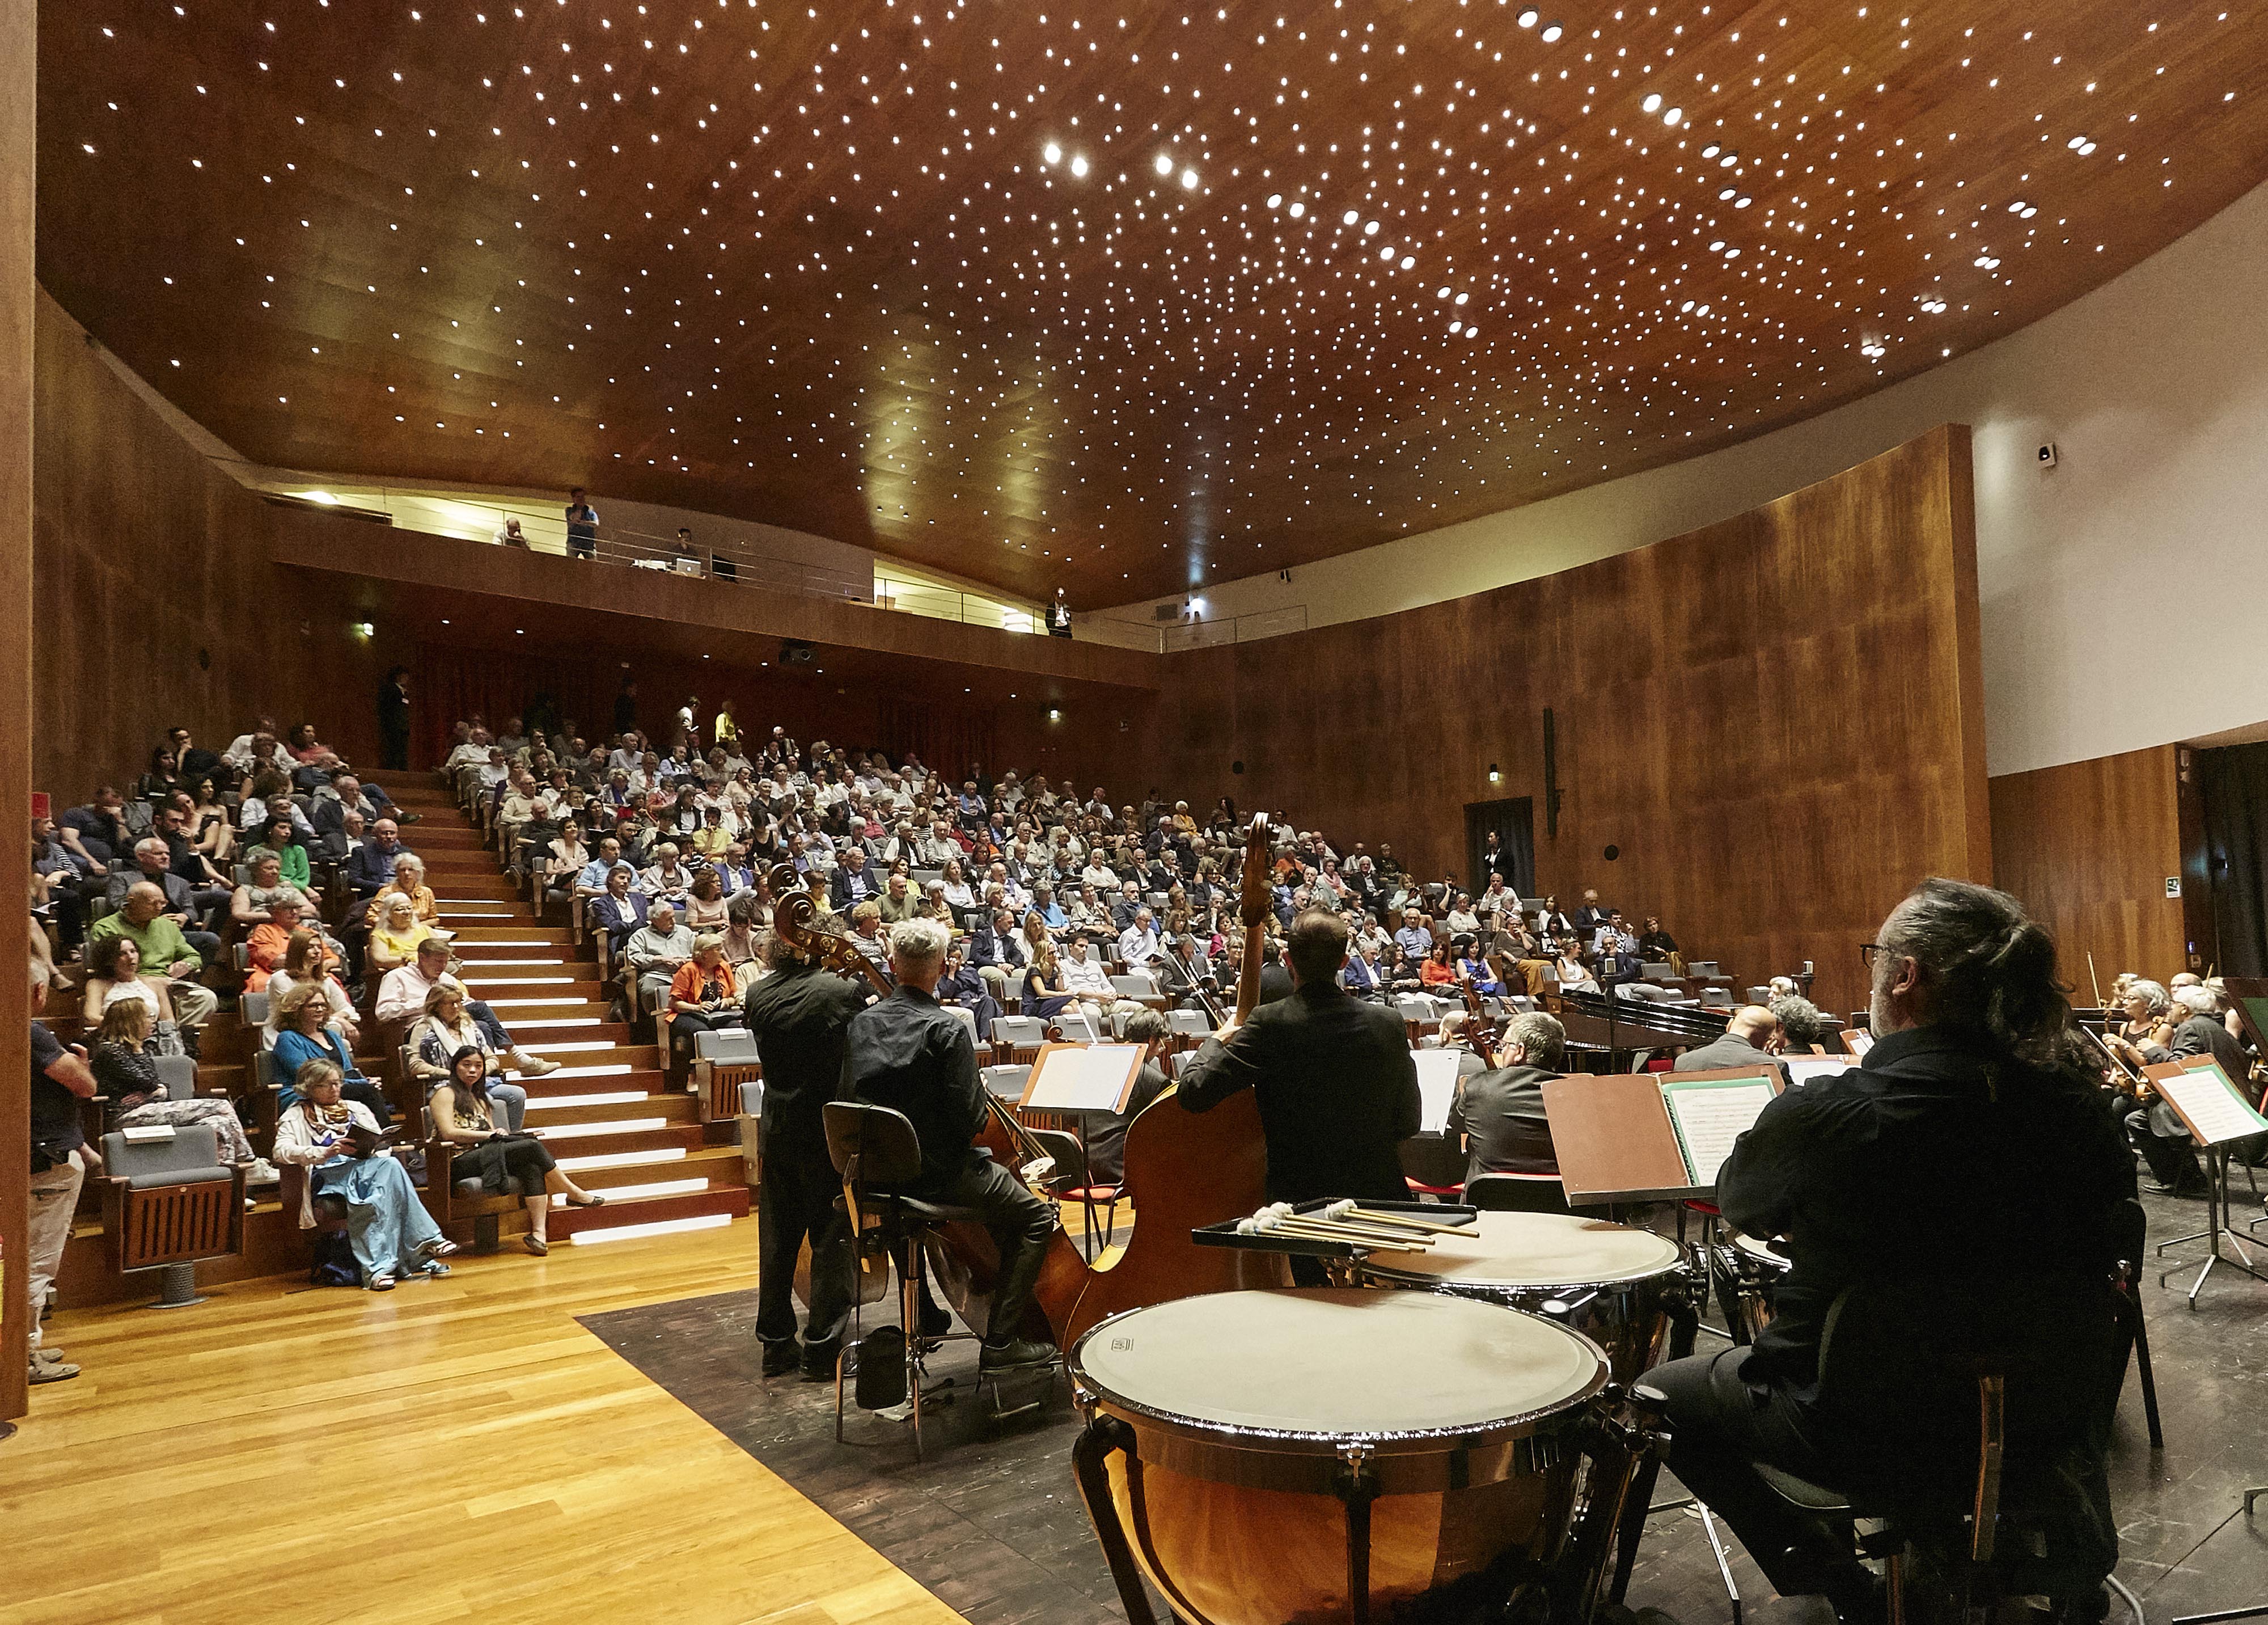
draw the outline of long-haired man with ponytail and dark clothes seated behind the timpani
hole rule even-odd
[[[1767,1105],[1717,1180],[1728,1223],[1789,1239],[1776,1319],[1749,1348],[1647,1378],[1669,1398],[1667,1466],[1783,1595],[1823,1593],[1844,1618],[1878,1611],[1873,1577],[1755,1471],[1835,1487],[1814,1384],[1837,1291],[1948,1260],[1975,1282],[2109,1273],[2134,1196],[2132,1155],[2071,1039],[2055,942],[2014,896],[1923,881],[1867,953],[1873,1049]]]

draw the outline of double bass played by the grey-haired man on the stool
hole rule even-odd
[[[776,867],[767,876],[767,885],[780,899],[771,915],[771,928],[787,946],[826,965],[835,974],[855,974],[885,999],[896,992],[889,971],[866,958],[853,937],[819,926],[819,906],[803,890],[792,865]],[[1023,1328],[1018,1328],[1018,1337],[1061,1344],[1070,1312],[1086,1289],[1086,1260],[1080,1257],[1080,1248],[1064,1235],[1061,1207],[1043,1185],[1055,1169],[1055,1157],[1048,1155],[1048,1148],[1030,1128],[1016,1121],[1016,1114],[1000,1096],[991,1089],[982,1094],[984,1128],[973,1144],[989,1151],[1000,1167],[1016,1169],[1025,1185],[1032,1187],[1032,1194],[1048,1203],[1048,1212],[1055,1214],[1055,1230],[1048,1235],[1039,1282],[1032,1289],[1032,1310]],[[930,1235],[934,1237],[930,1266],[937,1271],[946,1303],[953,1305],[978,1337],[987,1337],[991,1328],[991,1291],[1000,1278],[1000,1248],[993,1246],[991,1232],[980,1223],[946,1223],[937,1226]],[[873,1303],[880,1296],[866,1296],[866,1291],[869,1282],[862,1264],[862,1303]]]

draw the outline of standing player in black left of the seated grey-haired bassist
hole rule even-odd
[[[803,1378],[835,1375],[844,1323],[850,1319],[850,1226],[835,1212],[841,1182],[828,1157],[819,1108],[835,1098],[844,1076],[850,1017],[866,1008],[866,990],[819,969],[773,933],[758,955],[771,967],[742,1005],[755,1053],[764,1062],[764,1182],[755,1194],[755,1337],[764,1346],[764,1375],[796,1366],[796,1253],[812,1241],[812,1303],[803,1325]]]

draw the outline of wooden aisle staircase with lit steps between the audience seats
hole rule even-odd
[[[701,1101],[671,1087],[662,1053],[608,1019],[608,987],[572,926],[535,919],[499,872],[481,831],[431,778],[388,776],[386,794],[422,815],[401,831],[426,862],[440,926],[465,965],[465,985],[531,1055],[560,1062],[519,1078],[528,1128],[603,1207],[556,1207],[551,1239],[633,1226],[748,1214],[748,1185],[730,1123],[703,1123]]]

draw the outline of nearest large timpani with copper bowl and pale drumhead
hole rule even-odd
[[[1080,1491],[1136,1625],[1136,1568],[1191,1625],[1554,1595],[1608,1389],[1563,1325],[1359,1287],[1129,1310],[1077,1341],[1070,1378]],[[1606,1541],[1583,1550],[1594,1584]]]

